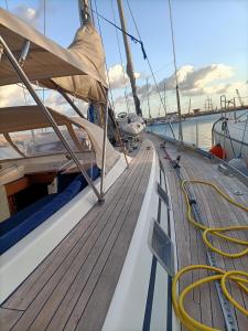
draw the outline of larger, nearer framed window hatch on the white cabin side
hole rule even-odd
[[[174,276],[173,243],[154,218],[151,220],[148,244],[160,265],[170,276]]]

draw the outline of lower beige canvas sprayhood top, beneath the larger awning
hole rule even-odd
[[[93,149],[96,153],[97,167],[101,169],[104,130],[86,119],[77,117],[67,117],[51,108],[47,109],[50,110],[51,115],[53,116],[58,126],[75,125],[87,132],[89,140],[91,141]],[[0,109],[0,134],[18,132],[46,127],[51,127],[51,124],[37,106],[7,107]],[[119,156],[120,153],[116,151],[111,143],[107,140],[107,172],[116,163]]]

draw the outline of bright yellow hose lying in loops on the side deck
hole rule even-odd
[[[203,224],[198,223],[196,220],[194,220],[194,217],[192,216],[192,207],[191,207],[191,202],[190,202],[190,197],[187,195],[187,191],[186,191],[186,184],[192,183],[192,184],[205,184],[208,185],[211,188],[213,188],[216,192],[218,192],[226,201],[228,201],[229,203],[231,203],[233,205],[236,205],[237,207],[248,212],[248,207],[234,201],[233,199],[230,199],[228,195],[226,195],[217,185],[211,183],[211,182],[205,182],[205,181],[198,181],[198,180],[185,180],[182,182],[182,190],[185,196],[185,201],[186,201],[186,205],[187,205],[187,220],[194,224],[196,227],[201,228],[203,231],[203,241],[206,244],[207,247],[209,247],[211,249],[213,249],[215,253],[225,256],[225,257],[229,257],[229,258],[237,258],[237,257],[241,257],[245,256],[248,253],[248,242],[246,241],[241,241],[241,239],[237,239],[237,238],[233,238],[229,237],[227,235],[224,235],[223,232],[228,232],[228,231],[244,231],[244,229],[248,229],[248,226],[228,226],[228,227],[207,227],[204,226]],[[219,238],[226,239],[228,242],[235,243],[235,244],[239,244],[239,245],[244,245],[247,246],[244,250],[241,250],[240,253],[234,253],[234,254],[229,254],[226,252],[223,252],[222,249],[218,249],[216,247],[214,247],[211,242],[207,238],[207,235],[215,235]],[[187,271],[192,271],[195,269],[205,269],[205,270],[211,270],[214,271],[216,275],[213,276],[208,276],[205,277],[203,279],[200,279],[191,285],[188,285],[187,287],[184,288],[184,290],[179,295],[176,295],[176,286],[177,282],[181,278],[181,276]],[[238,276],[238,277],[237,277]],[[215,267],[211,267],[211,266],[206,266],[206,265],[193,265],[193,266],[187,266],[183,269],[181,269],[174,277],[173,282],[172,282],[172,302],[173,302],[173,307],[174,307],[174,311],[175,314],[179,317],[180,321],[182,322],[182,324],[184,327],[186,327],[188,330],[203,330],[203,331],[217,331],[218,329],[213,329],[211,327],[207,327],[205,324],[200,323],[198,321],[194,320],[184,309],[184,299],[186,297],[186,295],[193,290],[195,287],[198,287],[205,282],[209,282],[209,281],[215,281],[215,280],[219,280],[220,281],[220,286],[223,289],[224,295],[226,296],[226,298],[238,309],[240,310],[244,314],[246,314],[248,317],[248,310],[246,310],[242,306],[240,306],[228,292],[227,287],[226,287],[226,281],[227,280],[231,280],[235,281],[240,289],[248,295],[248,273],[244,273],[244,271],[238,271],[238,270],[230,270],[230,271],[225,271],[222,270],[219,268],[215,268]]]

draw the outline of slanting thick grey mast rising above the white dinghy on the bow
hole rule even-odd
[[[130,46],[129,46],[128,38],[126,34],[127,28],[126,28],[125,15],[123,15],[122,0],[117,0],[117,4],[118,4],[118,10],[119,10],[119,17],[120,17],[120,23],[121,23],[122,36],[123,36],[123,43],[125,43],[125,50],[126,50],[126,56],[127,56],[127,74],[128,74],[130,83],[131,83],[132,97],[133,97],[134,106],[136,106],[136,114],[138,116],[142,116],[142,111],[140,108],[140,100],[137,95],[136,77],[134,77],[134,71],[133,71],[133,65],[132,65]]]

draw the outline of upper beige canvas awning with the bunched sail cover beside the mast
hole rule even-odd
[[[30,81],[39,81],[54,88],[50,81],[52,78],[65,92],[86,102],[106,102],[105,55],[101,40],[90,23],[77,31],[74,42],[66,50],[21,19],[0,9],[0,35],[17,58],[21,55],[24,42],[31,42],[23,66]],[[0,86],[20,82],[3,54],[0,61]]]

